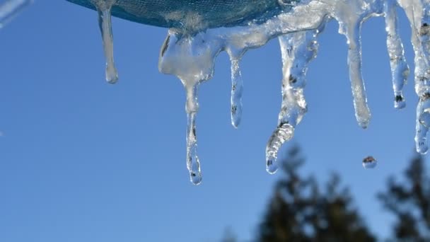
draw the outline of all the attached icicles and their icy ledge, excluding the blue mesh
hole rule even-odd
[[[295,3],[295,4],[291,4]],[[106,79],[117,81],[112,54],[112,28],[110,8],[115,0],[93,0],[98,9],[100,30],[106,63]],[[395,108],[405,107],[402,88],[409,75],[404,49],[399,37],[397,8],[407,14],[412,26],[412,44],[415,54],[415,91],[419,96],[417,106],[417,151],[425,154],[429,146],[426,134],[430,128],[430,1],[429,0],[305,0],[281,1],[289,4],[289,12],[274,16],[265,23],[249,23],[233,28],[213,28],[195,32],[170,29],[161,47],[158,68],[173,74],[182,81],[187,93],[187,168],[192,183],[202,181],[197,156],[196,115],[199,84],[211,79],[214,59],[226,51],[231,60],[231,123],[240,125],[242,114],[243,80],[240,59],[249,49],[260,47],[272,38],[279,38],[282,57],[282,104],[277,128],[269,137],[266,147],[266,169],[278,169],[277,153],[284,142],[294,135],[294,129],[307,111],[303,88],[309,62],[318,52],[318,34],[325,23],[336,20],[339,33],[345,35],[348,45],[348,65],[354,97],[356,120],[363,128],[368,126],[371,113],[368,109],[364,81],[361,75],[361,25],[373,16],[383,16],[387,31],[387,47],[393,78]],[[187,25],[187,23],[185,23]],[[188,26],[190,27],[190,26]],[[192,27],[192,26],[191,26]],[[187,28],[189,31],[192,28]]]

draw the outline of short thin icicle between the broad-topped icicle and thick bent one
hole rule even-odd
[[[231,61],[231,125],[239,127],[242,119],[243,80],[240,73],[240,59],[230,57]]]

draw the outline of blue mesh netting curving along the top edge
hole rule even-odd
[[[67,0],[93,8],[90,0]],[[284,0],[291,2],[296,0]],[[283,8],[278,0],[117,0],[112,15],[137,23],[165,28],[181,28],[189,13],[197,13],[207,28],[262,22],[277,15]],[[174,13],[177,18],[166,18]],[[178,18],[180,16],[180,18]]]

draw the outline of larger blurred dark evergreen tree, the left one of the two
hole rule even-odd
[[[284,173],[274,188],[257,231],[257,241],[376,241],[361,221],[347,188],[332,174],[323,191],[313,176],[302,178],[304,159],[298,146],[281,161]]]

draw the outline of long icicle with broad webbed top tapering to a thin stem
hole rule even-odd
[[[204,35],[182,35],[169,30],[161,47],[158,69],[174,74],[180,79],[187,93],[187,168],[192,183],[202,182],[199,157],[197,156],[196,115],[199,109],[197,88],[199,83],[211,78],[214,58],[219,50],[203,39]]]

